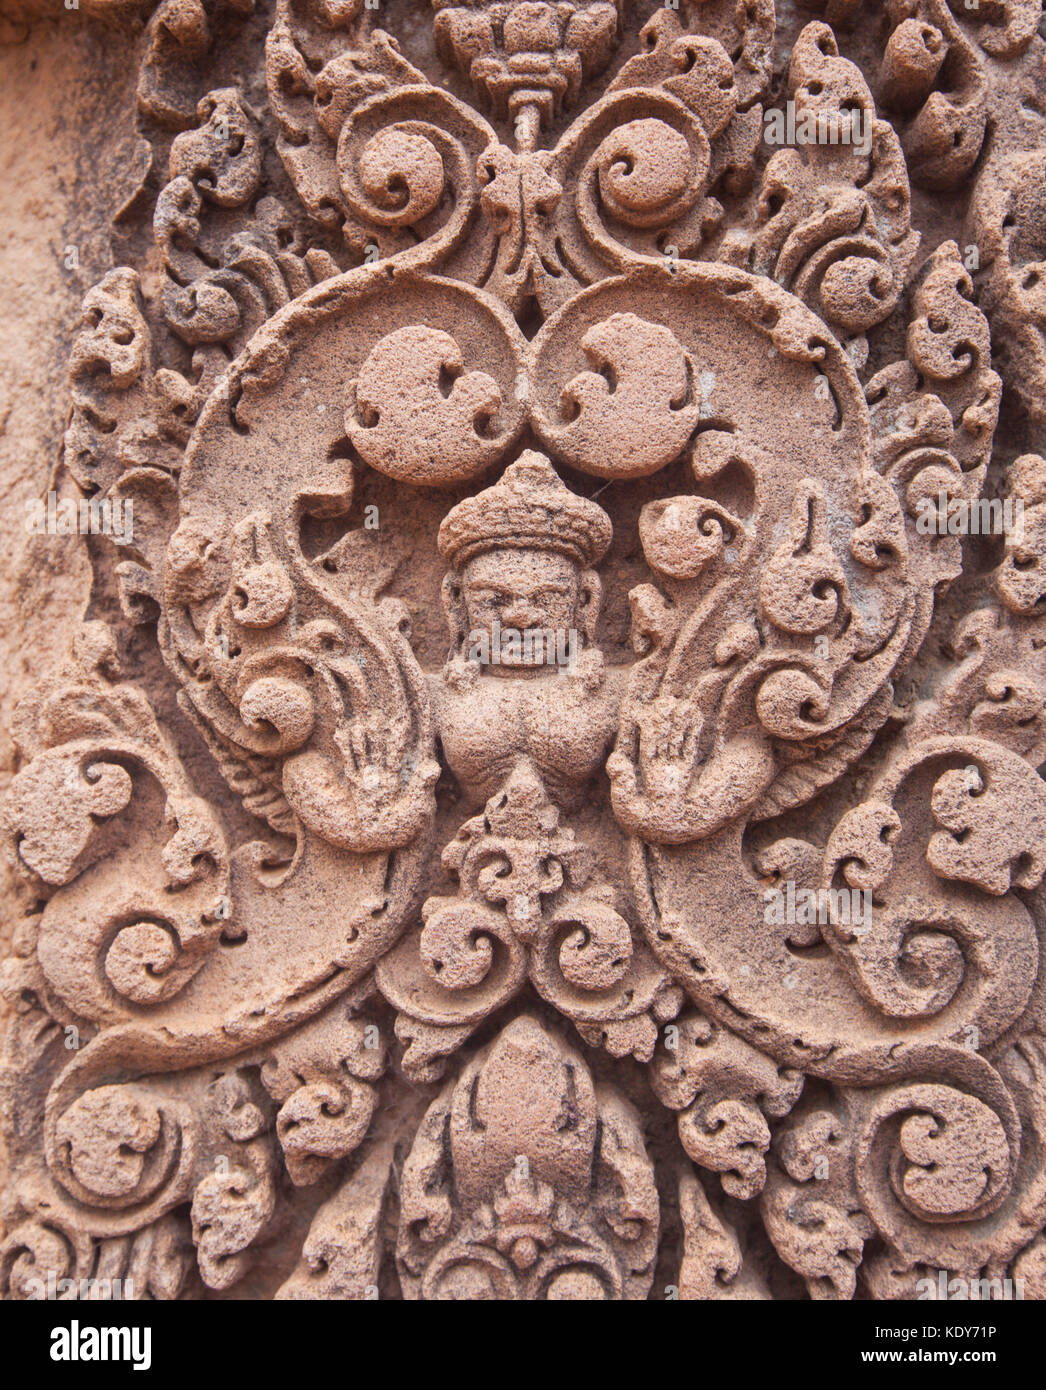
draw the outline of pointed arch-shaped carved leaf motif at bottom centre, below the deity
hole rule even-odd
[[[657,1226],[638,1116],[524,1015],[428,1109],[396,1255],[408,1298],[642,1298]]]

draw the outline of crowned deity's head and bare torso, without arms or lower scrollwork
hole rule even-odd
[[[526,767],[568,808],[604,762],[620,684],[607,678],[595,641],[595,566],[610,538],[606,512],[532,452],[440,525],[454,648],[432,681],[433,706],[470,801],[486,801]]]

